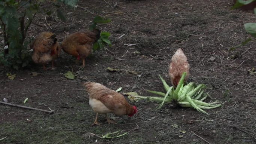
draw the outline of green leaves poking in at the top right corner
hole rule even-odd
[[[256,0],[237,0],[231,9],[237,9],[238,7],[252,3],[253,1],[256,1]],[[254,9],[254,13],[256,15],[256,8]],[[247,31],[247,33],[249,33],[251,36],[256,38],[256,23],[246,23],[246,24],[244,24],[244,29]],[[241,44],[234,46],[234,47],[230,48],[229,50],[235,50],[236,48],[246,45],[247,43],[249,43],[252,40],[253,39],[248,38],[248,39],[244,40],[244,42],[242,42]]]

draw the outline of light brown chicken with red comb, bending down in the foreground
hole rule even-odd
[[[105,114],[108,123],[115,123],[110,120],[107,113],[114,113],[118,116],[128,115],[129,117],[137,113],[137,107],[130,105],[125,97],[99,83],[86,82],[83,84],[89,94],[89,105],[96,112],[96,118],[92,125],[99,125],[98,113]]]

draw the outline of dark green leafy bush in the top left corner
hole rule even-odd
[[[0,64],[18,70],[25,67],[31,59],[27,50],[29,40],[26,39],[27,30],[45,0],[1,0],[0,28],[3,31],[4,49],[0,51]],[[55,11],[61,20],[65,20],[60,4],[74,6],[77,0],[52,0]],[[45,10],[51,15],[51,10]]]

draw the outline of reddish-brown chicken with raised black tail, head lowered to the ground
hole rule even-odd
[[[83,68],[85,58],[92,52],[92,46],[100,38],[100,30],[76,32],[65,37],[61,43],[64,52],[75,56],[78,60],[82,59]]]

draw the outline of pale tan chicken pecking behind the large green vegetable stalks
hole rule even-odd
[[[189,77],[189,63],[187,57],[184,55],[182,49],[178,49],[173,57],[171,58],[171,63],[169,65],[169,77],[171,78],[171,84],[174,88],[179,84],[180,78],[183,72],[187,72],[184,82],[188,80]]]

